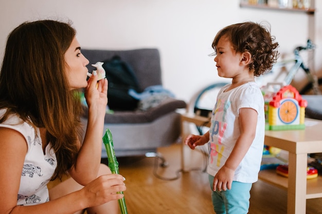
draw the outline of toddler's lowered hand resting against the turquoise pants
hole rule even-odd
[[[229,169],[225,165],[219,169],[216,176],[214,176],[212,189],[213,191],[226,191],[231,189],[232,179],[234,178],[235,170]]]

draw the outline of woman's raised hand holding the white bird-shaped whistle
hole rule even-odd
[[[102,79],[97,82],[97,73],[93,71],[93,75],[87,81],[85,98],[88,107],[95,104],[97,107],[103,107],[105,112],[106,105],[108,104],[108,80]]]

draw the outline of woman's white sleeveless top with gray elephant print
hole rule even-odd
[[[6,109],[0,109],[0,118],[5,112]],[[10,115],[4,123],[0,124],[0,127],[19,131],[24,136],[28,147],[21,173],[17,205],[34,205],[49,201],[47,183],[57,166],[56,155],[51,149],[51,144],[46,146],[44,153],[39,128],[34,129],[17,115]]]

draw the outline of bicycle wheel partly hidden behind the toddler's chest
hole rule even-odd
[[[217,101],[217,95],[219,90],[227,85],[228,83],[214,83],[211,84],[200,91],[196,96],[193,105],[193,112],[200,116],[210,117],[212,109]],[[196,126],[200,135],[204,134],[207,127]]]

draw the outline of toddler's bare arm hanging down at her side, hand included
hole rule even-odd
[[[226,163],[218,171],[213,180],[213,190],[227,190],[231,188],[235,170],[251,147],[256,134],[258,113],[252,108],[239,109],[240,135],[232,149]]]

